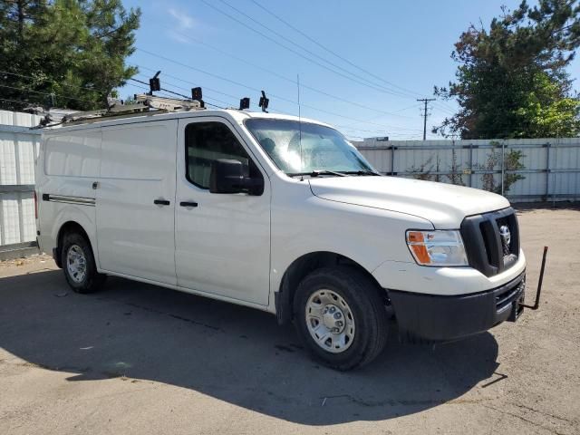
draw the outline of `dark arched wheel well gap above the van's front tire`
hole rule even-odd
[[[333,252],[312,252],[295,259],[292,265],[286,269],[285,274],[282,277],[280,288],[278,289],[278,292],[275,293],[275,312],[280,324],[285,324],[292,320],[294,314],[293,305],[295,291],[304,277],[316,269],[328,266],[351,266],[354,269],[359,270],[362,274],[368,276],[372,283],[375,284],[374,288],[378,295],[381,296],[382,300],[385,301],[385,304],[388,303],[387,294],[382,289],[381,285],[379,285],[374,276],[372,276],[372,274],[360,264],[347,256],[341,256],[340,254],[335,254]]]

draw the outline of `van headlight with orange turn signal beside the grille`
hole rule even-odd
[[[458,230],[409,230],[407,245],[421,266],[468,266]]]

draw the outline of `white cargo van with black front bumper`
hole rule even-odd
[[[237,110],[43,131],[38,240],[73,290],[117,275],[294,322],[346,370],[401,336],[516,320],[526,259],[506,198],[385,177],[329,125]]]

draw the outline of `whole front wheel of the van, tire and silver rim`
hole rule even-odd
[[[307,275],[296,289],[294,314],[310,352],[337,370],[371,362],[387,340],[387,314],[376,285],[353,267]]]

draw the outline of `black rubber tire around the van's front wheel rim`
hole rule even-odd
[[[353,316],[353,339],[339,353],[332,353],[316,343],[306,321],[306,305],[310,297],[315,297],[314,294],[324,289],[330,290],[333,296],[343,298]],[[382,352],[389,328],[387,313],[376,284],[349,266],[324,267],[304,278],[296,289],[294,323],[298,335],[314,357],[324,365],[341,371],[372,362]],[[328,343],[333,343],[333,340]]]

